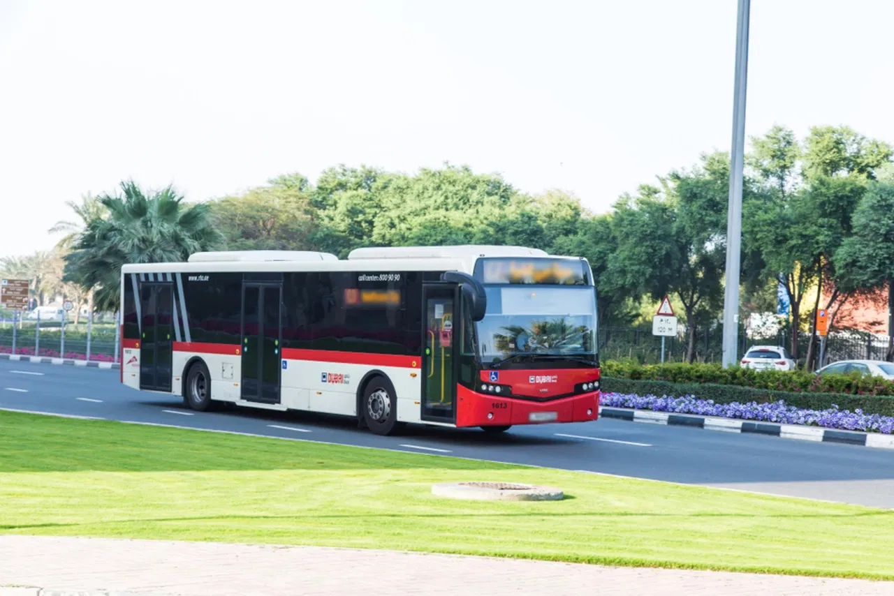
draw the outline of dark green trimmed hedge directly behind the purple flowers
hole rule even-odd
[[[779,391],[721,385],[718,383],[676,383],[667,381],[618,379],[603,377],[604,393],[667,396],[684,398],[695,396],[699,399],[713,399],[714,403],[731,404],[756,401],[759,404],[785,401],[789,406],[805,409],[824,410],[838,406],[842,410],[866,414],[894,416],[894,397],[884,395],[853,395],[848,393]]]

